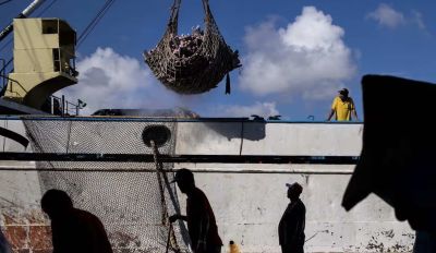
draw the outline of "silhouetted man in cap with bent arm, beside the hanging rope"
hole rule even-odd
[[[194,174],[189,169],[175,172],[172,183],[186,194],[186,216],[173,215],[170,221],[184,220],[187,222],[192,249],[195,253],[220,253],[222,240],[218,234],[218,226],[214,210],[202,190],[195,186]]]

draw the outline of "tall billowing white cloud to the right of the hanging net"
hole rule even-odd
[[[356,71],[343,28],[314,7],[286,28],[269,21],[247,27],[241,87],[255,95],[296,94],[324,99],[336,95],[342,82]]]

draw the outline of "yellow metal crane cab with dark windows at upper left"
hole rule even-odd
[[[15,19],[14,73],[5,98],[39,109],[53,93],[77,83],[76,32],[59,19]]]

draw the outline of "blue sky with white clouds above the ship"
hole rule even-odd
[[[5,26],[29,2],[1,5],[0,25]],[[81,34],[105,2],[57,0],[43,16],[64,19]],[[100,108],[182,106],[204,117],[280,113],[291,120],[305,120],[308,115],[323,120],[340,87],[351,91],[362,116],[364,74],[435,82],[434,1],[209,3],[226,40],[243,59],[242,72],[231,74],[230,96],[221,83],[210,93],[180,97],[165,91],[149,73],[142,50],[154,48],[161,38],[171,0],[118,0],[78,49],[80,84],[60,93],[70,100],[86,100],[89,107],[84,113]],[[190,33],[203,17],[199,0],[184,0],[179,33]],[[11,56],[12,45],[0,52],[0,58]]]

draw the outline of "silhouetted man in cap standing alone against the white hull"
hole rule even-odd
[[[284,210],[279,224],[279,242],[282,253],[303,253],[306,207],[300,200],[303,186],[299,183],[287,183],[288,198],[291,203]]]

